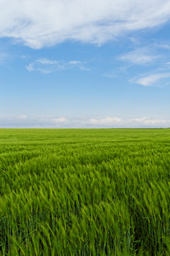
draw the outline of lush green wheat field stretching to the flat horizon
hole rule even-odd
[[[170,255],[170,129],[0,129],[0,255]]]

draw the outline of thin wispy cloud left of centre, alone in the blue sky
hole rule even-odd
[[[81,61],[54,61],[46,58],[31,62],[26,69],[29,72],[38,71],[41,73],[54,73],[75,67],[81,70],[90,70],[88,67],[84,67],[84,64]]]

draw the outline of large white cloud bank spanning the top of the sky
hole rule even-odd
[[[170,19],[169,0],[0,1],[0,37],[34,49],[65,40],[103,44]]]

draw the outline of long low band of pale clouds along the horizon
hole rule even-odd
[[[0,128],[159,128],[170,127],[170,119],[147,117],[54,117],[0,115]]]

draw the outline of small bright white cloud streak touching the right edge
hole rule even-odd
[[[157,86],[157,82],[159,81],[159,86],[161,85],[160,80],[170,78],[170,73],[155,73],[150,76],[145,76],[140,79],[131,79],[130,82],[141,84],[144,86]]]

